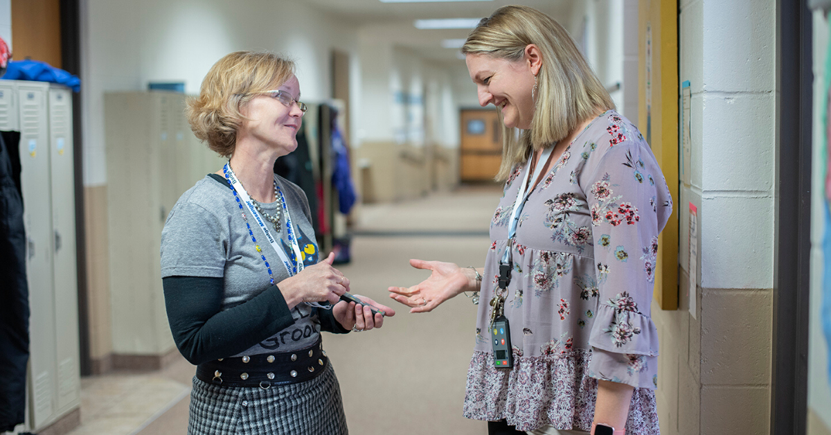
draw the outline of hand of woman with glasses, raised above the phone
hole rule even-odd
[[[334,260],[334,253],[330,253],[326,260],[307,266],[299,274],[280,282],[278,287],[288,309],[301,302],[329,301],[330,304],[337,304],[341,294],[349,291],[349,279],[332,267]]]

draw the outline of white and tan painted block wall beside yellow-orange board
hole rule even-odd
[[[773,319],[776,3],[679,0],[679,73],[691,82],[691,180],[681,182],[680,306],[661,340],[661,433],[768,433]],[[698,209],[696,316],[686,297]]]

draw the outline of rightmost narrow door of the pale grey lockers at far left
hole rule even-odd
[[[78,364],[78,279],[75,240],[75,167],[72,147],[72,94],[49,90],[50,166],[52,167],[52,256],[57,338],[57,408],[72,408],[81,395]]]

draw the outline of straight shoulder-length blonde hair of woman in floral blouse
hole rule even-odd
[[[560,141],[583,121],[615,107],[568,32],[533,7],[499,7],[470,32],[462,53],[515,62],[524,58],[529,44],[539,48],[543,60],[534,119],[531,129],[519,138],[503,124],[502,165],[496,180],[506,180],[514,166],[528,161],[532,151]]]

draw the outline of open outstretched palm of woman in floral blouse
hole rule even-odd
[[[390,287],[390,297],[411,307],[411,313],[427,313],[464,291],[479,291],[473,270],[443,261],[410,260],[416,269],[432,271],[430,278],[412,287]]]

